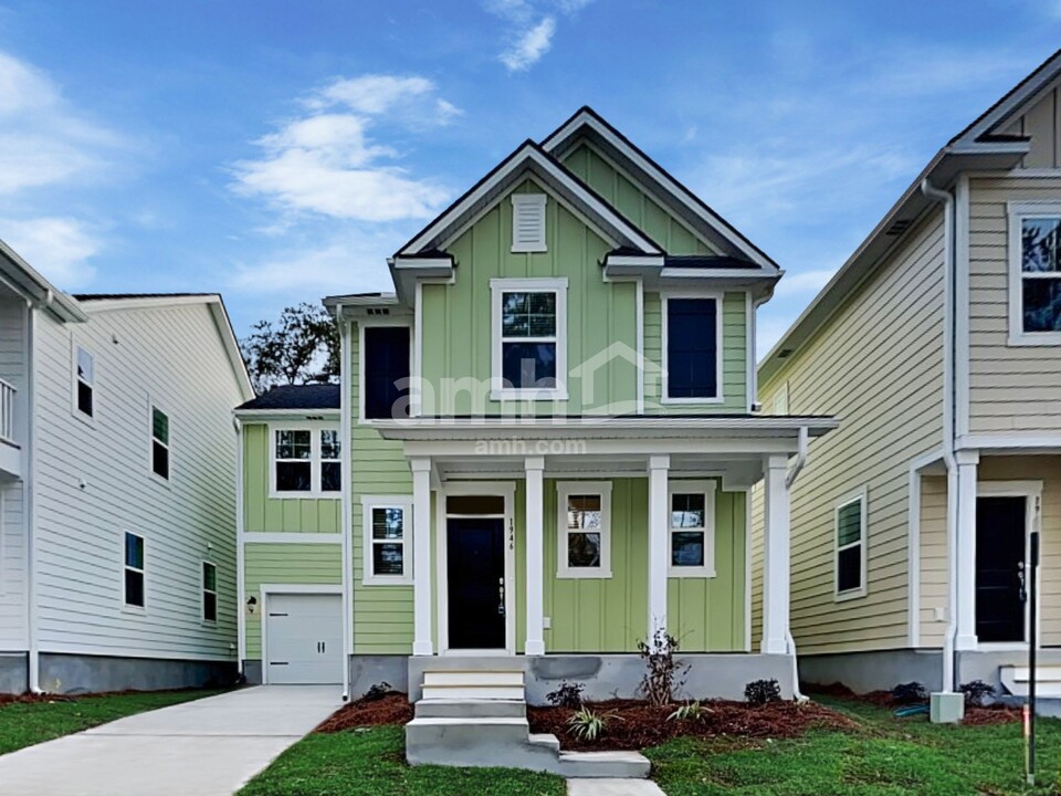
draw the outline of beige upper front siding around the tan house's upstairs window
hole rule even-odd
[[[1061,202],[1061,175],[969,180],[969,428],[1061,432],[1061,346],[1011,346],[1007,202]]]

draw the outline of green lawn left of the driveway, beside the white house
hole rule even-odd
[[[73,701],[0,704],[0,754],[81,732],[115,719],[166,708],[220,691],[156,691],[82,696]]]

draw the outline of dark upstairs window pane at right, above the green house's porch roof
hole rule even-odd
[[[717,311],[714,298],[666,302],[669,397],[717,397]]]

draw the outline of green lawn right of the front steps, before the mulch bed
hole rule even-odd
[[[863,703],[821,700],[859,720],[858,732],[735,744],[674,741],[647,752],[669,796],[1016,796],[1058,793],[1061,721],[1039,722],[1039,788],[1023,783],[1019,723],[929,724]]]

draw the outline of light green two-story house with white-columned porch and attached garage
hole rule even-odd
[[[777,265],[589,108],[388,264],[392,292],[325,300],[338,388],[237,412],[248,679],[418,699],[500,667],[532,702],[623,695],[665,631],[690,694],[790,694],[789,486],[834,422],[757,412]]]

